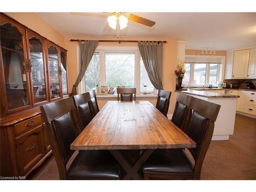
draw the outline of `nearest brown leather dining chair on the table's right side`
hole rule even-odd
[[[188,148],[195,163],[183,149],[156,150],[143,165],[144,179],[200,179],[203,161],[214,132],[221,105],[192,97],[189,102],[188,136],[196,148]]]

